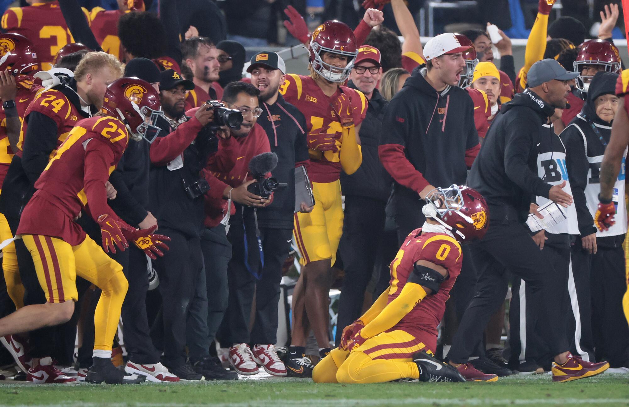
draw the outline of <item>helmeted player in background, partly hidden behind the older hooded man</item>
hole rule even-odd
[[[575,86],[566,99],[570,104],[565,109],[561,121],[567,126],[577,114],[581,113],[587,97],[587,88],[596,72],[607,71],[619,73],[620,54],[618,48],[605,40],[588,40],[579,45],[579,53],[574,61],[574,70],[579,72]]]

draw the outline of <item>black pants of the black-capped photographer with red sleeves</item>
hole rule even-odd
[[[160,229],[170,237],[170,250],[157,258],[153,267],[159,276],[162,309],[153,325],[151,337],[158,349],[164,350],[167,367],[186,362],[186,329],[188,314],[195,300],[199,273],[204,273],[201,239],[185,236],[172,229]]]

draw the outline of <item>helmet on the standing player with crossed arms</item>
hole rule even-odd
[[[347,65],[344,68],[335,67],[323,62],[321,54],[324,52],[345,55]],[[309,62],[313,70],[330,82],[345,82],[352,72],[353,63],[358,55],[358,47],[353,31],[337,20],[326,21],[313,31],[310,40]]]

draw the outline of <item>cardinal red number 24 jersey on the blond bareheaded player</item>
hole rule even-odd
[[[19,158],[22,157],[22,146],[26,137],[26,130],[28,129],[28,115],[31,112],[45,114],[57,123],[57,148],[64,142],[77,121],[83,118],[76,106],[60,90],[48,89],[38,93],[28,106],[28,109],[26,109],[24,114],[25,120],[22,122],[22,128],[19,131],[18,151],[16,151]],[[52,151],[51,157],[55,154],[55,151]]]

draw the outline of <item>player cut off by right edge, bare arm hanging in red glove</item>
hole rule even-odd
[[[623,70],[616,83],[616,96],[620,97],[618,111],[611,126],[610,142],[605,148],[605,155],[601,163],[599,180],[601,182],[601,192],[598,195],[598,209],[594,215],[594,224],[599,231],[607,231],[616,223],[616,205],[614,204],[613,192],[616,177],[620,173],[620,166],[625,165],[625,151],[629,144],[629,69]],[[625,296],[623,296],[623,310],[625,318],[629,323],[629,285]]]

